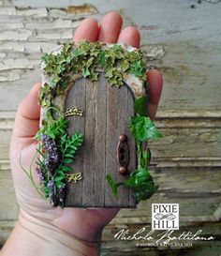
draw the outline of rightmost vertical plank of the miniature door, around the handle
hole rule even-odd
[[[119,163],[117,162],[117,145],[119,143],[119,136],[125,134],[127,144],[129,146],[130,160],[128,163],[128,171],[132,172],[135,170],[136,163],[136,150],[135,143],[130,135],[128,129],[128,118],[133,115],[133,95],[129,91],[127,86],[120,88],[110,87],[107,90],[107,143],[106,143],[106,168],[107,173],[111,173],[113,178],[118,181],[123,181],[128,176],[128,173],[122,175],[119,173]],[[112,170],[109,171],[109,167],[113,166]],[[116,207],[135,207],[135,198],[131,195],[131,191],[128,188],[119,188],[119,199],[113,198],[111,189],[106,185],[107,195],[107,206],[111,206],[111,201],[115,202]],[[127,203],[126,203],[127,200]],[[112,205],[114,206],[114,205]]]

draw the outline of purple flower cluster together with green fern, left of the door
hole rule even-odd
[[[43,196],[52,206],[63,208],[66,200],[66,173],[72,172],[70,164],[83,138],[78,132],[69,136],[66,133],[67,121],[64,114],[53,107],[46,112],[49,110],[57,111],[59,117],[54,119],[51,113],[47,125],[37,131],[37,153],[41,158],[37,158],[36,172]]]

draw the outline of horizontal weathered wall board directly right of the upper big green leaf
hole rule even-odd
[[[220,128],[161,128],[160,130],[165,137],[150,143],[153,160],[155,156],[160,160],[221,156]]]

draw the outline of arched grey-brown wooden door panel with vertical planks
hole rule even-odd
[[[117,88],[103,76],[92,83],[80,78],[66,96],[65,107],[78,107],[82,116],[69,116],[68,133],[79,131],[84,143],[75,157],[73,173],[82,173],[82,180],[68,184],[66,206],[136,207],[128,188],[119,188],[119,198],[112,195],[106,175],[118,181],[128,177],[136,168],[136,147],[128,128],[128,118],[134,114],[134,97],[127,85]],[[127,174],[119,173],[117,146],[119,136],[127,136],[129,161]]]

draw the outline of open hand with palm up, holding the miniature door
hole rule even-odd
[[[121,31],[122,23],[122,17],[114,12],[108,13],[100,25],[96,23],[96,20],[87,18],[81,22],[73,40],[123,42],[139,48],[139,31],[134,27],[126,27]],[[149,112],[150,117],[154,119],[162,89],[162,77],[157,70],[151,69],[147,72],[147,81],[150,84]],[[19,157],[22,154],[22,165],[28,169],[30,159],[36,152],[36,141],[33,137],[39,128],[39,105],[37,104],[39,86],[40,83],[34,85],[28,96],[22,100],[16,114],[11,137],[10,163],[17,200],[21,209],[20,218],[31,218],[34,222],[40,219],[45,224],[55,227],[56,230],[84,241],[98,241],[102,229],[116,215],[117,209],[53,208],[50,203],[40,198],[19,165]],[[36,173],[33,172],[33,174],[37,181]],[[44,236],[43,233],[42,236]]]

